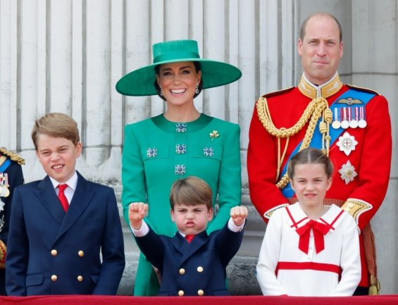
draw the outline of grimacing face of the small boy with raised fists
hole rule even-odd
[[[213,218],[213,208],[208,209],[206,204],[175,204],[170,213],[178,230],[185,235],[197,235],[206,230],[207,223]]]

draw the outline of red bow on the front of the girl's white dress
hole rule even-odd
[[[313,239],[315,242],[315,250],[318,254],[323,249],[325,249],[325,242],[323,240],[323,235],[325,235],[330,230],[329,225],[325,225],[324,223],[318,223],[315,220],[309,220],[308,223],[303,225],[301,228],[298,228],[296,232],[300,235],[299,239],[299,249],[303,251],[305,254],[308,254],[309,250],[309,235],[313,230]]]

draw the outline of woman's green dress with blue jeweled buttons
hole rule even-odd
[[[213,191],[218,211],[207,231],[223,228],[230,209],[240,204],[240,127],[201,114],[192,122],[174,123],[163,114],[125,126],[122,158],[123,214],[131,202],[147,202],[145,221],[158,234],[177,231],[170,218],[169,194],[175,180],[195,175]],[[139,258],[134,295],[156,295],[158,279],[144,256]]]

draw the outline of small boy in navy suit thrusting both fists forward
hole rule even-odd
[[[248,211],[245,206],[231,208],[225,227],[207,235],[213,218],[211,195],[209,185],[194,176],[173,184],[170,213],[178,228],[174,237],[156,235],[149,228],[143,220],[147,204],[130,204],[128,217],[139,249],[161,273],[158,295],[229,295],[225,268],[240,248]]]

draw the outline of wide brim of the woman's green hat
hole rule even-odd
[[[170,60],[153,63],[126,74],[116,83],[116,91],[132,97],[156,95],[158,93],[154,86],[156,80],[155,67],[164,63],[184,61],[198,61],[201,64],[203,89],[228,85],[231,82],[235,82],[235,80],[239,80],[242,76],[242,72],[229,63],[211,61],[206,58],[179,58],[178,61]]]

